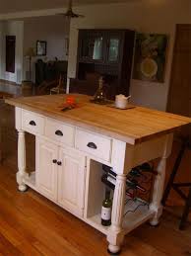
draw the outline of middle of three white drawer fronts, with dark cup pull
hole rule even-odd
[[[74,146],[75,128],[52,119],[46,119],[45,136],[68,146]]]

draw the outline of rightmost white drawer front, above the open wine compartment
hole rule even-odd
[[[76,148],[107,162],[110,161],[111,139],[108,137],[77,129]]]

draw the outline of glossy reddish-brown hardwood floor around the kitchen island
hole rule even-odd
[[[17,189],[17,132],[14,129],[14,109],[0,106],[0,125],[3,125],[3,165],[0,165],[0,255],[101,256],[106,253],[105,236],[82,220],[62,210],[29,189]],[[3,123],[1,123],[4,121]],[[33,152],[33,137],[28,138]],[[169,176],[178,149],[174,144],[168,161]],[[188,151],[177,179],[191,180],[191,152]],[[28,156],[33,163],[33,153]],[[125,237],[123,256],[191,255],[191,224],[178,230],[178,214],[182,202],[170,194],[159,227],[143,224]],[[175,207],[176,206],[176,207]],[[191,221],[191,215],[190,215]]]

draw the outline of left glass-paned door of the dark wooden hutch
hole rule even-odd
[[[80,61],[103,61],[103,36],[98,32],[81,32],[80,35]]]

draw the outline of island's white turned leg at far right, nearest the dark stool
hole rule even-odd
[[[164,181],[165,181],[165,167],[166,167],[166,157],[162,157],[159,161],[159,165],[157,168],[158,175],[155,180],[154,184],[154,194],[152,204],[150,205],[150,209],[155,211],[154,217],[151,219],[151,225],[158,225],[159,224],[159,217],[162,213],[162,206],[161,206],[161,199],[163,194],[164,188]]]

